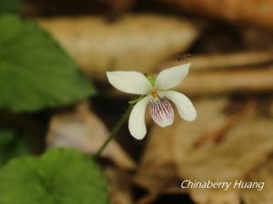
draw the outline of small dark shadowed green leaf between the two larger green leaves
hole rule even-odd
[[[23,135],[15,131],[0,129],[0,166],[15,157],[29,154],[30,149]]]

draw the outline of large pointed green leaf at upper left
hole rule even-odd
[[[0,15],[0,109],[32,112],[80,101],[95,90],[35,23]]]

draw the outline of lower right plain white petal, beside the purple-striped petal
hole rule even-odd
[[[175,91],[165,91],[160,93],[175,103],[181,118],[186,121],[194,121],[197,118],[197,111],[186,95]]]

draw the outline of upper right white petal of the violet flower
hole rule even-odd
[[[163,70],[157,75],[155,87],[159,90],[167,90],[177,86],[187,77],[190,63],[174,66]]]

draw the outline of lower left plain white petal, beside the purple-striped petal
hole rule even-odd
[[[147,133],[145,124],[145,111],[149,99],[150,96],[146,96],[139,102],[136,102],[136,105],[129,117],[129,131],[131,135],[136,138],[136,140],[142,140]]]

